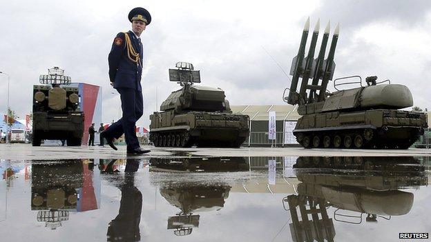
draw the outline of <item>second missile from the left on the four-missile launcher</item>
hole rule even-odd
[[[318,19],[314,31],[312,34],[312,42],[308,50],[307,58],[305,58],[305,67],[303,67],[303,80],[301,81],[301,87],[299,91],[300,103],[307,102],[307,85],[308,79],[312,76],[313,65],[314,65],[314,51],[316,50],[317,37],[320,28],[320,19]]]

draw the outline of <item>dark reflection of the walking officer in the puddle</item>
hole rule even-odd
[[[139,160],[128,159],[124,170],[124,181],[118,188],[122,191],[118,215],[108,225],[108,241],[140,241],[142,193],[135,187],[135,172]]]

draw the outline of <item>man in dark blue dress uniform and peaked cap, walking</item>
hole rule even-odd
[[[127,153],[143,154],[150,150],[140,148],[135,131],[136,121],[142,117],[144,110],[141,87],[144,48],[140,36],[151,23],[151,15],[145,8],[133,8],[128,14],[128,20],[132,23],[132,30],[117,34],[108,56],[109,79],[119,92],[123,116],[101,135],[111,148],[117,150],[113,139],[124,134]]]

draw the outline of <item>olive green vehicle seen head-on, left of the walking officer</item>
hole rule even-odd
[[[58,67],[48,69],[39,81],[44,85],[33,85],[32,145],[39,146],[44,139],[81,145],[84,113],[79,110],[78,88],[64,86],[70,85],[71,79]]]

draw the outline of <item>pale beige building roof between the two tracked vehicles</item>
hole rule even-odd
[[[276,112],[276,120],[297,121],[300,118],[297,105],[231,105],[232,112],[249,115],[251,120],[266,121],[268,112]]]

